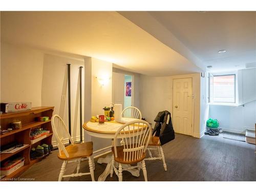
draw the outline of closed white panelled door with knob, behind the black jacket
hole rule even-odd
[[[173,81],[174,131],[192,135],[192,78]]]

